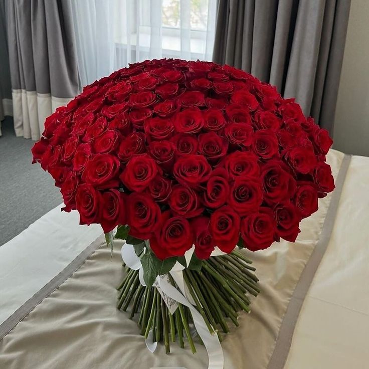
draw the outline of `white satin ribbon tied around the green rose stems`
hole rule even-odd
[[[187,265],[190,264],[190,260],[194,253],[195,247],[188,250],[185,254],[185,259]],[[141,265],[140,258],[136,255],[133,245],[124,244],[122,247],[122,259],[124,263],[131,269],[139,270],[139,280],[143,286],[146,286],[143,280],[143,268]],[[216,247],[213,251],[212,256],[223,255],[220,249]],[[223,369],[224,367],[224,357],[222,346],[219,342],[217,334],[210,334],[209,329],[204,321],[204,318],[197,311],[191,294],[189,293],[188,287],[183,279],[182,270],[185,269],[183,265],[176,262],[174,267],[170,270],[170,275],[173,277],[175,283],[178,285],[180,291],[178,291],[173,285],[169,283],[167,276],[157,276],[154,286],[157,288],[158,292],[162,296],[164,302],[168,306],[169,311],[172,313],[178,306],[178,302],[182,305],[187,306],[191,312],[194,320],[196,330],[204,342],[205,348],[208,351],[209,365],[208,369]],[[147,339],[145,339],[147,348],[154,352],[157,347],[157,342],[152,342],[152,332],[149,333]],[[171,367],[166,367],[165,369],[170,369]],[[160,368],[150,368],[150,369],[160,369]],[[163,368],[164,369],[164,368]],[[173,367],[173,369],[180,369],[179,367]],[[186,369],[186,368],[183,368]]]

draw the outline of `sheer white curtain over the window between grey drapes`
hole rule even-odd
[[[211,60],[217,0],[70,0],[81,84],[129,63]]]

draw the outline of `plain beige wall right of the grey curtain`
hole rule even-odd
[[[351,0],[333,148],[369,156],[369,1]]]

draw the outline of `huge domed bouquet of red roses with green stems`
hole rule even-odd
[[[32,152],[60,187],[64,211],[101,224],[111,245],[118,226],[116,237],[133,245],[146,287],[128,268],[118,307],[132,303],[142,333],[153,329],[168,350],[168,334],[183,345],[183,329],[193,347],[192,318],[181,304],[168,310],[151,287],[156,277],[183,265],[210,332],[227,332],[228,318],[237,325],[247,294],[259,289],[236,245],[256,251],[295,241],[300,221],[334,189],[331,144],[294,99],[252,75],[163,59],[85,87],[46,119]]]

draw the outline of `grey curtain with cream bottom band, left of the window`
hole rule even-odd
[[[17,136],[37,140],[45,118],[79,92],[70,5],[65,0],[6,2]]]

